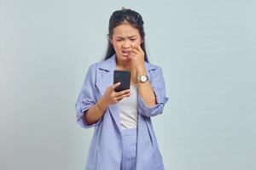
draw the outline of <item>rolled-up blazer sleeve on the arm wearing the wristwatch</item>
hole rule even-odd
[[[138,113],[142,116],[157,116],[164,110],[164,106],[168,101],[166,97],[166,84],[163,77],[162,69],[157,66],[154,71],[150,71],[152,81],[151,86],[156,96],[156,104],[148,106],[143,98],[138,94]]]

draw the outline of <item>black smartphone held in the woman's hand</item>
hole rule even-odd
[[[130,89],[131,72],[130,71],[113,71],[113,83],[121,82],[121,84],[114,88],[115,92],[120,92],[125,89]]]

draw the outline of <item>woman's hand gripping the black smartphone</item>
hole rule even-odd
[[[120,82],[117,82],[111,86],[109,86],[105,94],[102,96],[102,101],[105,103],[105,105],[108,107],[108,105],[113,105],[118,103],[121,99],[124,99],[125,97],[129,97],[131,95],[131,90],[126,89],[121,92],[115,92],[114,88],[118,87],[120,85]]]

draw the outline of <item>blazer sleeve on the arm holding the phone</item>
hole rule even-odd
[[[82,118],[82,116],[86,114],[86,111],[88,111],[92,105],[96,104],[95,80],[96,64],[90,65],[84,78],[84,83],[79,94],[79,99],[77,100],[77,103],[75,105],[77,112],[76,122],[79,124],[79,126],[84,128],[94,127],[101,121],[99,120],[98,122],[89,126]]]

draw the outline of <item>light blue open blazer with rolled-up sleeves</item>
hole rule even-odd
[[[118,105],[109,105],[102,118],[88,126],[82,120],[84,111],[95,105],[106,88],[113,84],[113,71],[116,67],[116,56],[90,65],[84,79],[83,88],[75,105],[77,122],[81,127],[95,127],[90,143],[86,170],[119,170],[122,157],[122,136]],[[161,114],[168,100],[165,81],[159,66],[145,62],[148,79],[154,89],[157,104],[148,107],[138,94],[137,122],[137,170],[162,170],[164,164],[154,135],[151,117]],[[85,112],[86,114],[86,112]]]

